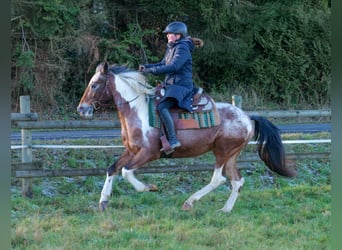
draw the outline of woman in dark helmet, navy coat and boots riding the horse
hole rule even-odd
[[[167,50],[159,63],[139,66],[139,71],[152,74],[165,74],[165,95],[157,109],[166,130],[166,136],[173,149],[181,143],[176,137],[170,108],[180,107],[189,112],[194,91],[192,80],[192,55],[195,44],[188,36],[188,28],[183,22],[172,22],[163,31],[167,37]],[[163,149],[162,149],[163,150]]]

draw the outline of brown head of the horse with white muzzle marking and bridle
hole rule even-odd
[[[78,104],[77,111],[81,116],[91,117],[95,110],[113,102],[111,81],[114,81],[114,75],[108,70],[108,64],[100,64]]]

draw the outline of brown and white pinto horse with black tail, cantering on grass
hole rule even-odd
[[[101,106],[114,103],[121,124],[122,143],[125,147],[121,156],[107,169],[101,197],[100,211],[108,207],[114,176],[121,174],[138,192],[157,191],[157,187],[138,180],[134,171],[144,164],[166,157],[162,147],[161,129],[150,125],[148,98],[156,93],[146,76],[136,70],[107,62],[97,66],[89,81],[77,111],[83,118],[90,118]],[[244,184],[237,158],[248,142],[255,138],[259,157],[273,172],[284,177],[294,177],[296,171],[288,166],[284,145],[278,128],[262,116],[248,116],[240,108],[213,102],[219,114],[219,124],[208,128],[177,129],[181,147],[168,158],[196,157],[211,151],[215,156],[213,175],[209,184],[192,194],[183,204],[182,210],[191,210],[195,201],[230,180],[231,194],[223,212],[230,212]]]

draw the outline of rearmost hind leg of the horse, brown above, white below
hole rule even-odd
[[[241,177],[240,171],[236,167],[237,156],[238,154],[230,158],[225,166],[225,173],[230,179],[232,192],[224,207],[221,208],[221,211],[223,212],[230,212],[233,209],[234,204],[238,198],[240,188],[243,186],[244,183],[244,178]]]

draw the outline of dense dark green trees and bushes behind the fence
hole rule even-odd
[[[194,79],[214,98],[228,90],[281,108],[329,106],[330,5],[327,0],[14,1],[12,97],[15,102],[30,90],[37,109],[74,108],[98,63],[136,68],[159,61],[166,43],[161,31],[180,20],[190,35],[204,40],[193,55]],[[19,63],[28,51],[29,71]]]

